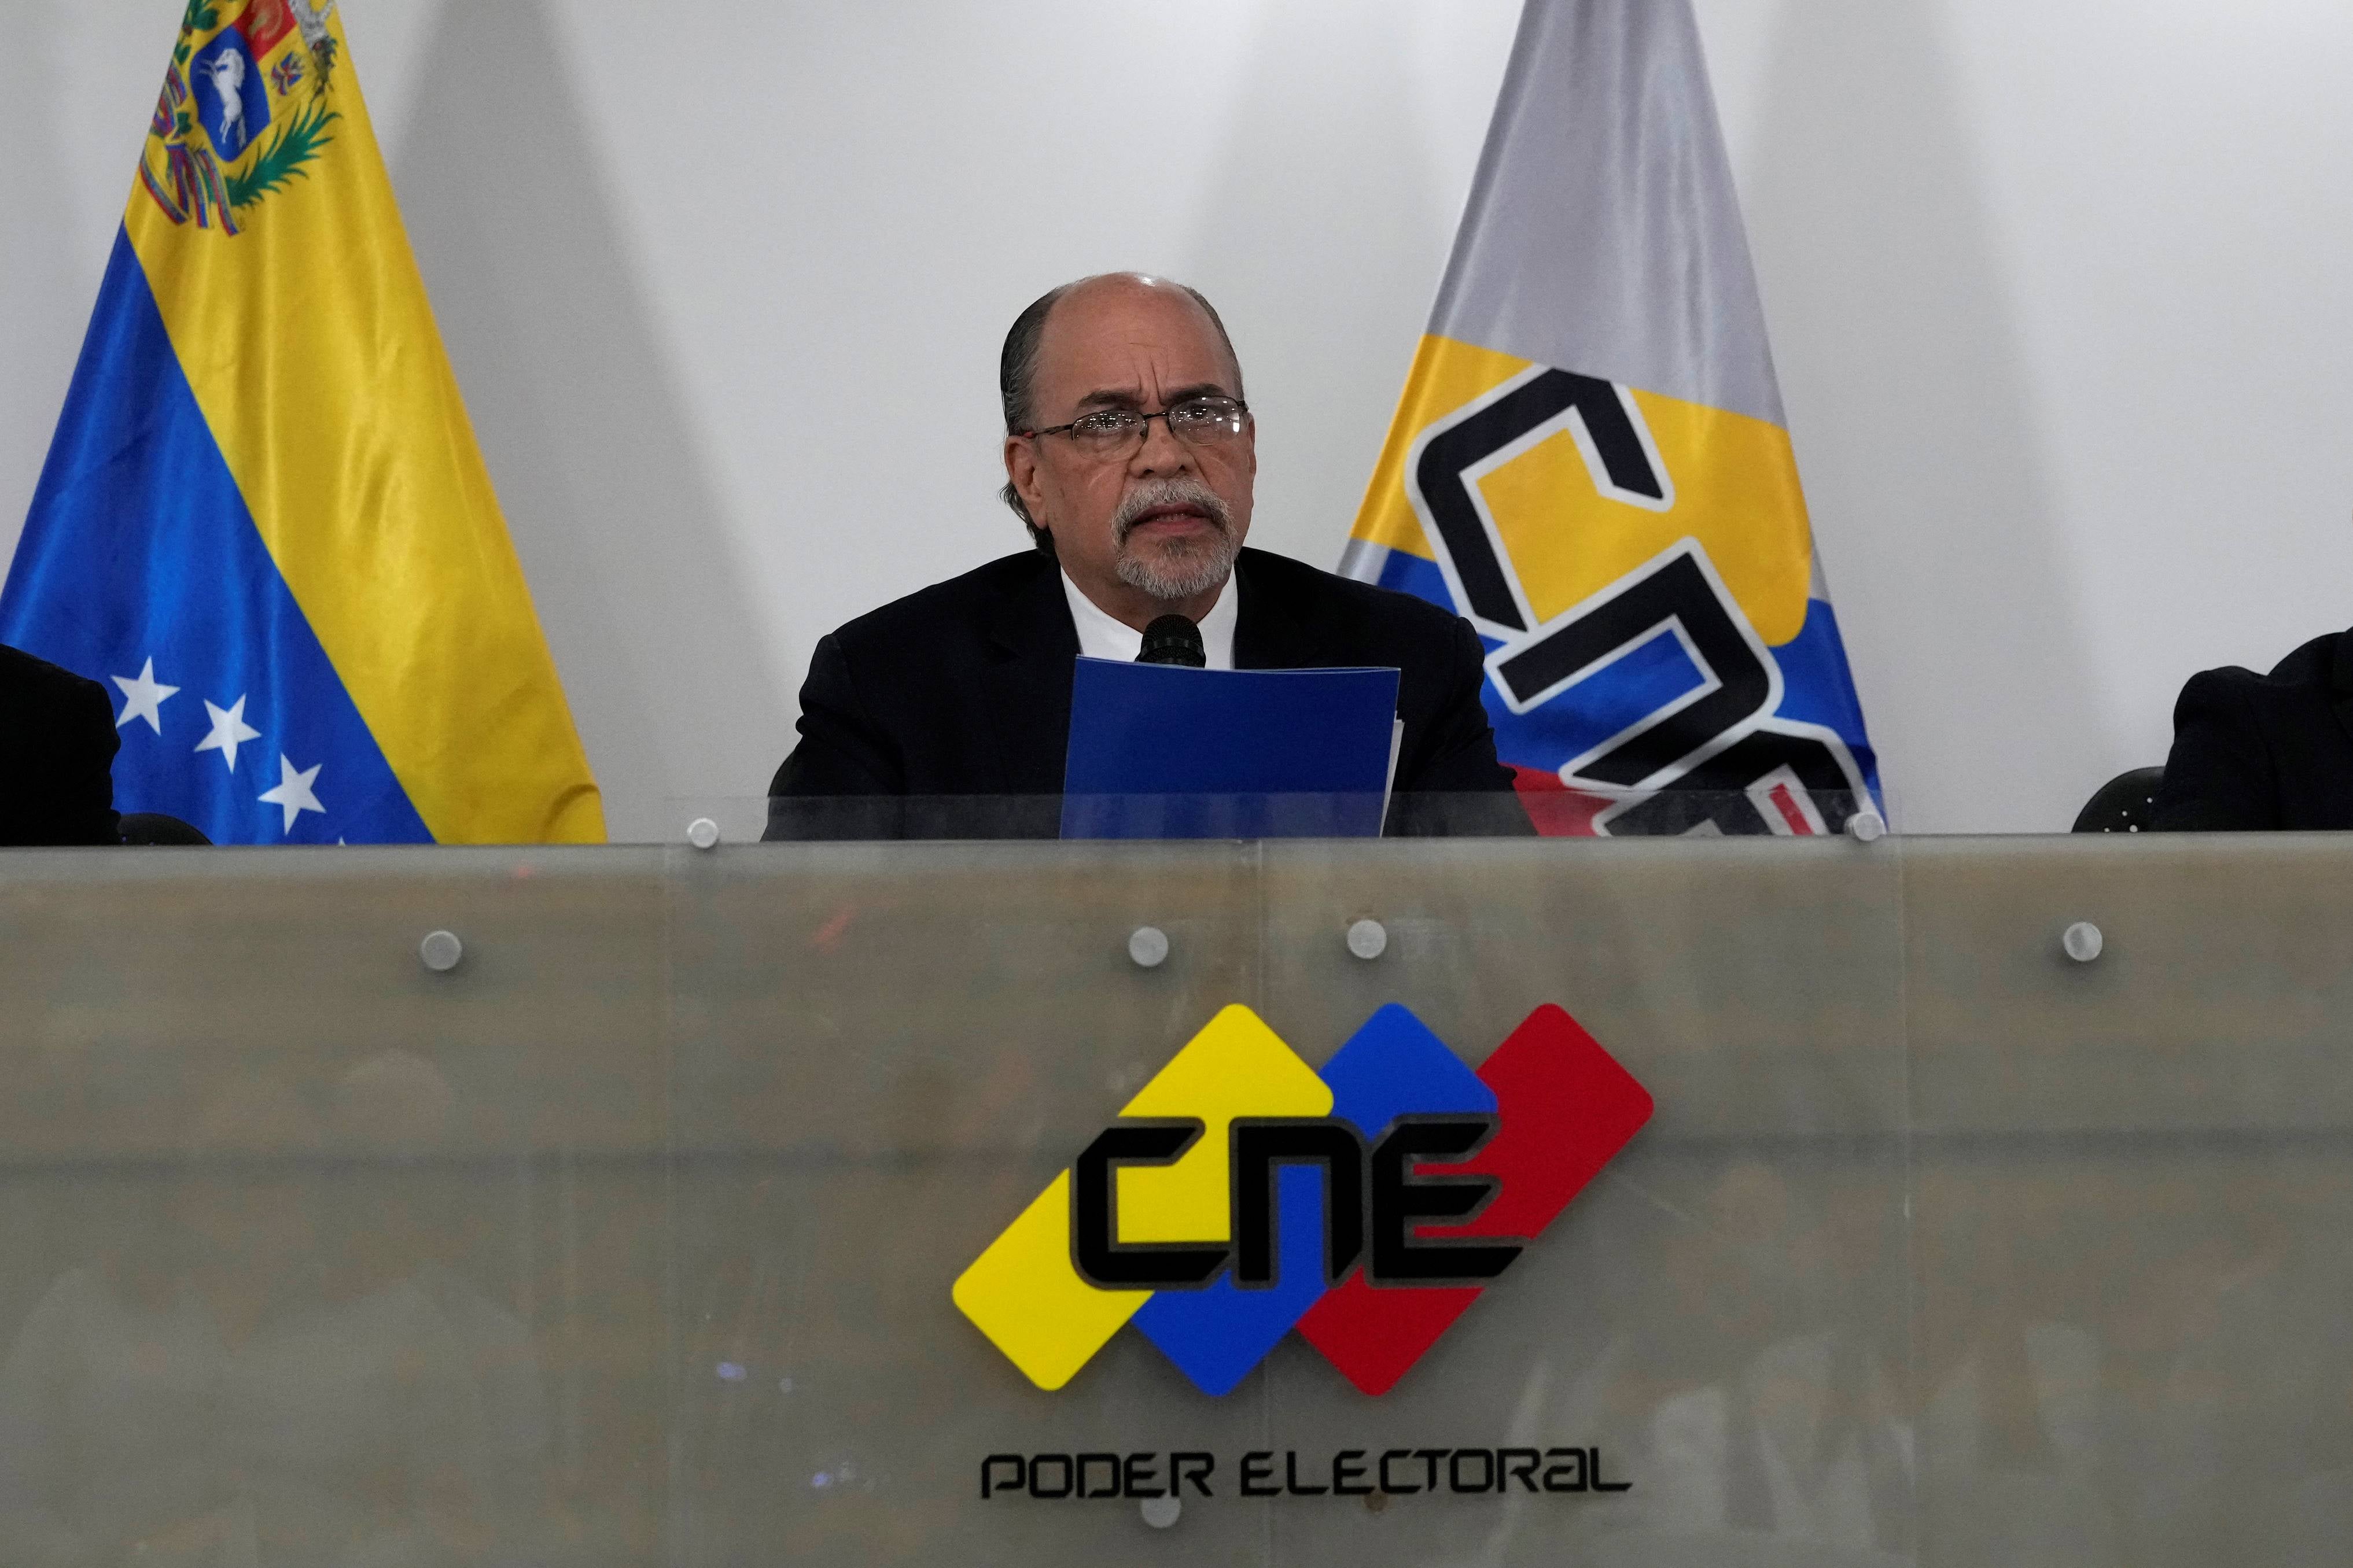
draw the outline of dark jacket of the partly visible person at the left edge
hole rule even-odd
[[[0,646],[0,844],[120,844],[106,686]]]

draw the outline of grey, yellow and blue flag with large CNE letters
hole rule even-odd
[[[1689,0],[1527,0],[1341,571],[1478,628],[1546,832],[1875,809]]]

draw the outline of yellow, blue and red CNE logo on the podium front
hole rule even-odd
[[[1395,1004],[1322,1072],[1228,1006],[974,1258],[955,1305],[1042,1389],[1134,1321],[1205,1394],[1292,1328],[1386,1394],[1649,1112],[1558,1006],[1478,1072]]]

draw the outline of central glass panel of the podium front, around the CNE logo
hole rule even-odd
[[[1908,1340],[1899,860],[1880,849],[675,849],[675,1561],[1908,1549],[1908,1474],[1857,1415],[1904,1375]],[[1344,1295],[1313,1255],[1329,1211],[1294,1201],[1299,1173],[1273,1178],[1273,1288],[1235,1291],[1235,1253],[1207,1291],[1078,1324],[1052,1281],[1021,1295],[991,1272],[1045,1197],[1071,1276],[1071,1187],[1132,1098],[1136,1117],[1200,1119],[1226,1192],[1212,1225],[1118,1239],[1235,1241],[1238,1126],[1353,1112],[1365,1072],[1332,1058],[1402,1011],[1454,1081],[1431,1060],[1372,1072],[1428,1091],[1355,1128],[1379,1227],[1381,1135],[1464,1110],[1461,1079],[1475,1091],[1546,1004],[1664,1110],[1595,1154],[1558,1222],[1525,1225],[1541,1234],[1485,1291],[1386,1284],[1478,1298],[1409,1354],[1367,1352],[1346,1302],[1322,1300]],[[1221,1034],[1240,1027],[1228,1009],[1247,1009],[1247,1041]],[[1226,1093],[1153,1100],[1209,1048],[1233,1051]],[[1534,1105],[1551,1121],[1522,1143],[1602,1138],[1577,1112]],[[1148,1175],[1111,1178],[1120,1213]],[[1828,1422],[1821,1462],[1788,1441],[1809,1467],[1795,1526],[1769,1512],[1767,1460],[1725,1476],[1725,1429],[1753,1429],[1760,1401]]]

